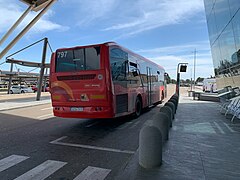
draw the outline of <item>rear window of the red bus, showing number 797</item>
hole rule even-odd
[[[56,53],[56,72],[100,69],[100,46],[59,50]]]

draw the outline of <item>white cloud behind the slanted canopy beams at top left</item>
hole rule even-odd
[[[24,8],[21,8],[19,5],[20,2],[9,0],[6,3],[5,0],[0,0],[0,33],[6,32],[22,15],[25,11]],[[65,31],[68,27],[62,26],[60,24],[54,23],[50,18],[54,15],[53,11],[49,10],[32,28],[32,32],[46,32],[50,30],[59,30]],[[36,13],[30,12],[25,20],[19,26],[21,29],[25,27],[34,17]]]

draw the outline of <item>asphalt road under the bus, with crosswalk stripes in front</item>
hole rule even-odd
[[[63,119],[51,104],[0,112],[0,179],[114,179],[138,148],[137,119]]]

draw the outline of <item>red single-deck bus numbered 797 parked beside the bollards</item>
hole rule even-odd
[[[56,50],[50,92],[55,116],[139,116],[166,95],[164,69],[114,42]]]

